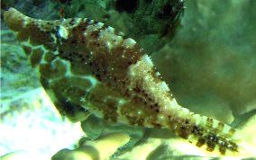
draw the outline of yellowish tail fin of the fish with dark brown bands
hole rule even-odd
[[[171,129],[181,138],[187,139],[197,147],[221,156],[238,156],[242,147],[238,144],[236,129],[224,123],[189,112],[189,118],[171,121]],[[182,116],[184,117],[184,116]],[[173,125],[176,124],[176,125]]]

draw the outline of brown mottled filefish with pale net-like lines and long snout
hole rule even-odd
[[[116,123],[170,129],[219,156],[237,156],[236,129],[178,105],[151,58],[135,40],[88,18],[33,19],[5,11],[41,85],[62,115],[91,114]]]

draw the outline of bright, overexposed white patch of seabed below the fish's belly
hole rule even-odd
[[[0,156],[23,150],[23,155],[50,159],[84,135],[79,124],[61,118],[41,87],[12,93],[12,99],[1,100]]]

